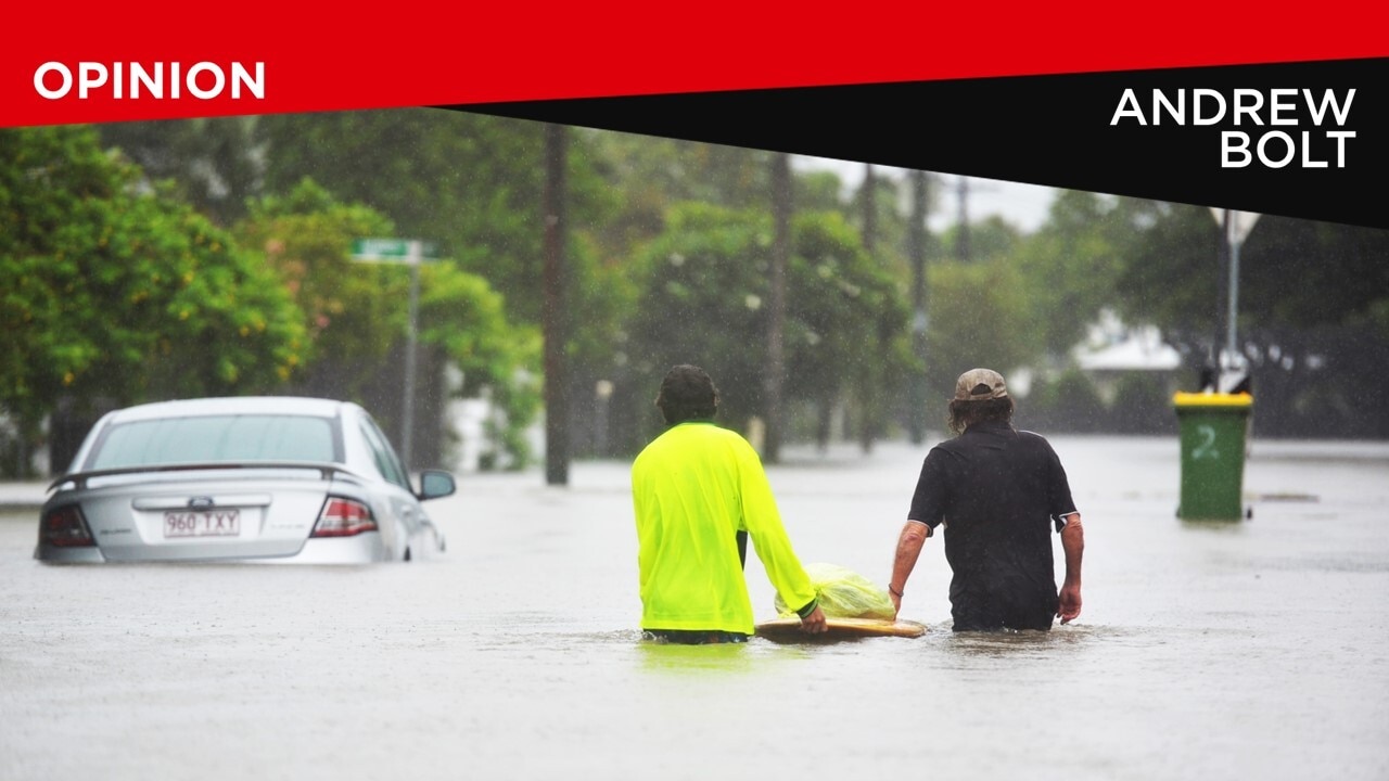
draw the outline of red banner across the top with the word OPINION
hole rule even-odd
[[[1378,3],[22,3],[0,126],[1389,56]]]

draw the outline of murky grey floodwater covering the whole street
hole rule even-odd
[[[410,564],[53,567],[0,516],[0,778],[1389,778],[1389,443],[1256,441],[1253,518],[1190,524],[1175,438],[1051,441],[1085,609],[1013,635],[950,632],[933,538],[922,638],[642,643],[622,463],[463,475]],[[801,560],[885,584],[924,454],[788,450]]]

